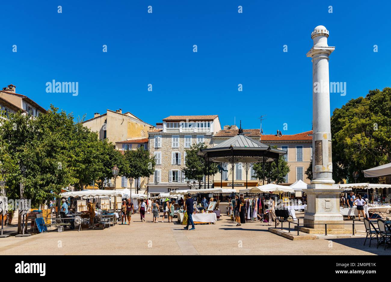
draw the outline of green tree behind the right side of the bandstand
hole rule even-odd
[[[277,146],[273,146],[277,148]],[[253,170],[255,176],[259,180],[263,180],[263,163],[257,162],[253,164]],[[288,163],[285,161],[284,155],[280,155],[278,159],[278,173],[276,162],[267,163],[265,162],[265,180],[267,183],[276,182],[278,178],[278,183],[284,183],[288,180],[285,179],[285,176],[289,173],[291,169],[288,166]]]

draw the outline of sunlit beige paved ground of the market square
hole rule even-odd
[[[301,218],[303,214],[298,214]],[[0,255],[360,255],[389,254],[372,241],[363,246],[363,225],[356,238],[291,241],[267,231],[267,223],[250,222],[236,227],[226,215],[215,225],[152,223],[152,214],[132,216],[131,225],[117,224],[104,230],[77,232],[66,228],[30,237],[0,239]],[[358,221],[356,223],[359,223]],[[360,224],[360,223],[359,223]],[[332,238],[332,237],[330,237]]]

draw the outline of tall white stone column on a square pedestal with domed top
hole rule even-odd
[[[314,45],[307,53],[312,58],[312,175],[307,186],[307,211],[304,227],[307,233],[324,233],[327,224],[330,233],[352,232],[345,230],[343,216],[339,212],[341,190],[332,178],[331,128],[330,128],[330,82],[328,78],[329,55],[335,47],[328,46],[329,32],[317,26],[311,33]]]

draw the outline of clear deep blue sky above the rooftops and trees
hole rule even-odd
[[[390,9],[389,1],[2,1],[0,86],[76,117],[122,108],[154,124],[218,114],[222,125],[236,117],[249,129],[266,115],[264,134],[283,123],[295,134],[311,129],[314,27],[325,25],[336,46],[330,81],[347,84],[346,96],[331,94],[332,111],[391,86]],[[53,79],[79,82],[79,95],[46,93]]]

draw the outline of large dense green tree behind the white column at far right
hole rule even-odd
[[[370,90],[348,101],[331,117],[333,179],[368,182],[362,170],[391,162],[391,88]],[[312,175],[312,166],[307,170]]]

